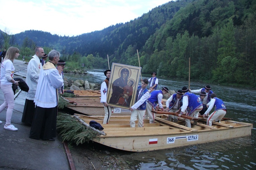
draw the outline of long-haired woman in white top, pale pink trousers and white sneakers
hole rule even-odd
[[[1,64],[1,90],[4,94],[4,103],[0,106],[0,113],[7,108],[6,111],[6,123],[4,126],[4,129],[16,131],[18,130],[13,125],[11,125],[11,117],[12,117],[12,111],[14,108],[14,94],[12,90],[12,84],[19,85],[19,81],[15,81],[13,79],[13,73],[14,73],[14,66],[13,61],[14,59],[18,58],[19,56],[19,49],[16,47],[10,47],[6,55],[4,57],[4,60]],[[2,122],[0,121],[0,124]]]

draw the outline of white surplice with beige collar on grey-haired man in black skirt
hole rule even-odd
[[[55,65],[47,62],[40,72],[34,103],[41,108],[54,108],[58,105],[58,88],[62,87],[63,79]]]

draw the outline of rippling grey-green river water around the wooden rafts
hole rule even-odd
[[[65,74],[68,79],[83,79],[93,83],[101,83],[104,79],[103,70],[89,70],[86,75]],[[151,75],[143,75],[150,78]],[[188,87],[188,81],[174,79],[159,79],[158,89],[168,87],[177,91],[183,86]],[[204,83],[190,82],[190,89],[205,87]],[[112,148],[104,148],[121,156],[126,162],[140,170],[256,170],[256,91],[245,88],[211,85],[211,89],[222,99],[227,107],[225,117],[234,121],[252,123],[250,137],[235,138],[206,144],[180,146],[149,152],[124,152]]]

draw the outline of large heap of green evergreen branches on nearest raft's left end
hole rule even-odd
[[[64,113],[58,113],[57,116],[57,132],[60,135],[62,142],[68,141],[78,144],[83,144],[92,139],[100,140],[100,135],[86,126],[83,126],[72,116]]]

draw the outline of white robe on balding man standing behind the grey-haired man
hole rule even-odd
[[[26,83],[29,87],[29,90],[25,93],[25,98],[28,100],[34,100],[41,69],[42,64],[40,59],[36,55],[32,56],[32,59],[28,62],[27,65]]]

